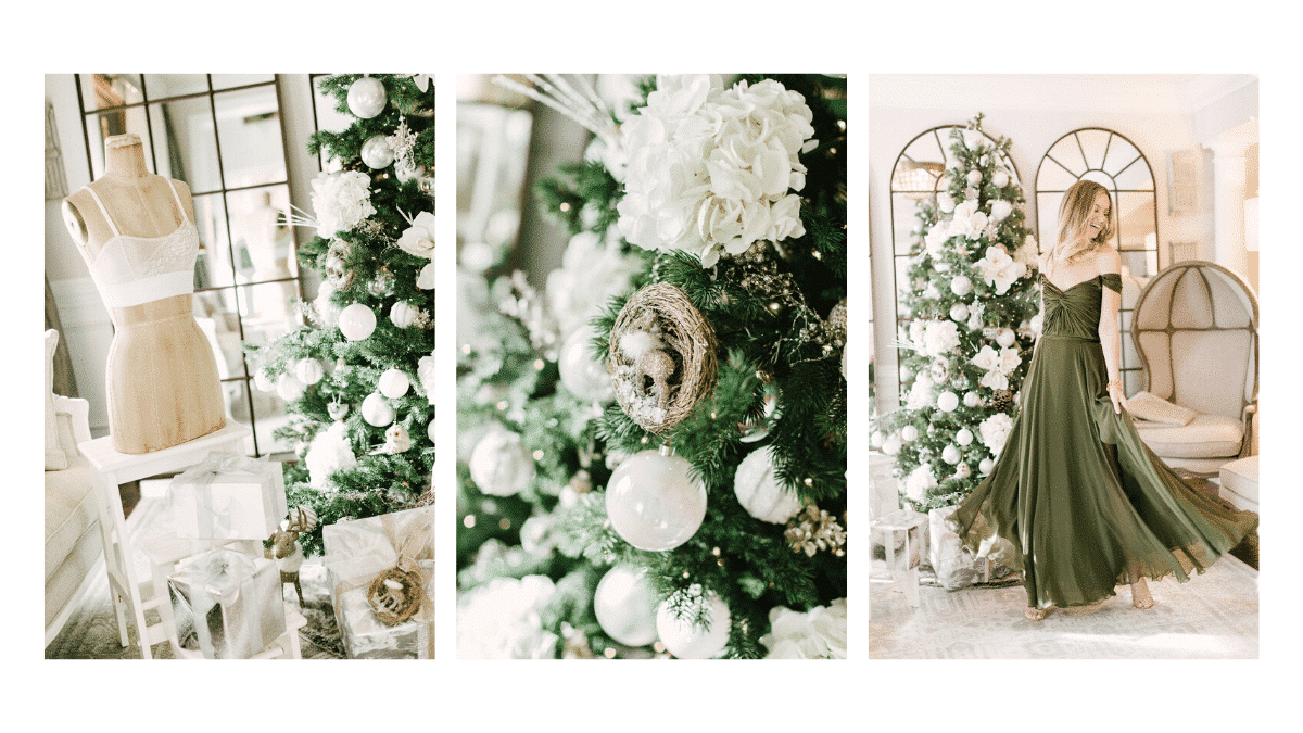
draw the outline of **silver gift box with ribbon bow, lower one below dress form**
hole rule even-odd
[[[168,576],[182,650],[249,659],[285,633],[276,563],[229,549],[197,554]]]

